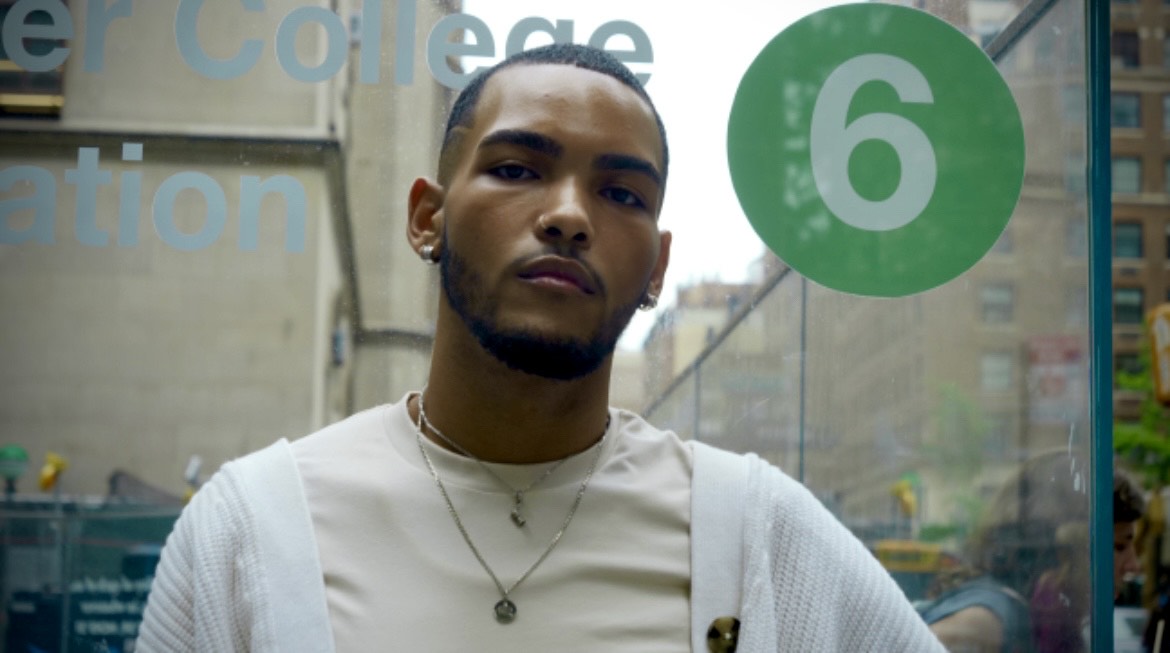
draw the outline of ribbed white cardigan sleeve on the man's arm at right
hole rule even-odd
[[[755,459],[748,487],[739,651],[944,651],[889,573],[804,486]]]

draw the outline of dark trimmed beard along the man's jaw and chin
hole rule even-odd
[[[439,277],[447,302],[480,346],[509,369],[555,380],[577,379],[600,367],[618,346],[618,338],[639,303],[635,300],[618,307],[589,339],[557,338],[501,326],[497,322],[498,301],[490,297],[483,279],[452,249],[449,241],[441,250]]]

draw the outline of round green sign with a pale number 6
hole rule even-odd
[[[785,263],[858,295],[945,283],[994,245],[1024,180],[1024,130],[987,56],[917,9],[805,16],[736,91],[728,160],[748,220]]]

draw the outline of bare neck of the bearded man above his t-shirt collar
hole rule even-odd
[[[587,449],[605,433],[612,358],[578,379],[546,379],[509,369],[469,334],[460,338],[443,331],[435,334],[427,419],[476,458],[548,462]],[[417,422],[417,400],[408,410]]]

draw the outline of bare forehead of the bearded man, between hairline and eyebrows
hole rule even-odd
[[[488,80],[472,140],[479,143],[500,130],[536,131],[566,146],[587,142],[662,165],[662,144],[649,104],[620,81],[574,66],[518,64]]]

